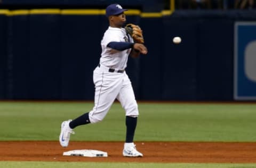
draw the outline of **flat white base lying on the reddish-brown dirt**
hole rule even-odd
[[[83,149],[63,152],[63,156],[108,157],[108,153],[100,150]]]

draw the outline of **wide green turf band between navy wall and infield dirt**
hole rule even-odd
[[[0,102],[0,140],[58,140],[63,120],[93,103]],[[256,141],[256,104],[139,103],[135,141]],[[124,110],[115,103],[100,123],[75,129],[71,140],[123,141]]]

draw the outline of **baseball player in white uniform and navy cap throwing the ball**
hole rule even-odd
[[[111,4],[106,8],[109,27],[101,40],[100,63],[93,71],[94,107],[92,111],[77,117],[75,120],[62,122],[59,137],[62,147],[68,146],[70,134],[74,134],[73,129],[78,125],[102,121],[114,100],[117,99],[124,108],[126,115],[126,139],[123,156],[143,156],[133,143],[139,111],[125,68],[129,56],[138,57],[140,54],[147,54],[147,48],[141,41],[134,43],[133,39],[136,36],[143,40],[142,31],[138,26],[132,25],[130,27],[130,30],[137,33],[136,35],[130,35],[123,28],[126,22],[124,11],[127,10],[119,4]]]

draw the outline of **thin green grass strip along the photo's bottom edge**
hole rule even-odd
[[[196,164],[196,163],[83,163],[83,162],[0,162],[0,167],[5,168],[253,168],[256,164]]]

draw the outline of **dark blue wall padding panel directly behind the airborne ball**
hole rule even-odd
[[[197,22],[164,19],[163,99],[196,99]],[[182,38],[174,44],[173,37]]]

